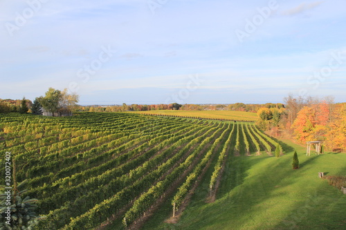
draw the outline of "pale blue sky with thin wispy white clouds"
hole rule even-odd
[[[1,0],[0,98],[346,102],[345,38],[345,0]]]

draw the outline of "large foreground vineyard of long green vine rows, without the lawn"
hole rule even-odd
[[[228,155],[273,155],[278,146],[282,153],[250,122],[140,113],[0,115],[0,149],[11,152],[17,181],[28,179],[25,195],[37,198],[46,215],[36,229],[116,221],[136,229],[168,198],[179,215],[202,179],[215,197]]]

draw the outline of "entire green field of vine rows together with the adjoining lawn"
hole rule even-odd
[[[276,148],[279,158],[273,157]],[[296,171],[293,148],[301,166]],[[26,195],[39,199],[46,219],[36,229],[346,224],[345,195],[317,175],[345,175],[346,155],[307,157],[302,146],[274,140],[248,122],[140,113],[9,114],[0,115],[0,149],[15,158],[17,180],[29,180]]]

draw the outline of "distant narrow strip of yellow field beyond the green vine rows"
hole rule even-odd
[[[256,113],[248,113],[241,111],[140,111],[134,113],[146,114],[161,114],[161,115],[179,115],[179,116],[193,116],[205,118],[223,118],[223,119],[237,119],[256,121]]]

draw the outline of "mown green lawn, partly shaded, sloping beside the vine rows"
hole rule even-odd
[[[304,155],[304,148],[288,142],[286,155],[230,156],[217,201],[206,204],[208,180],[176,224],[169,203],[144,229],[345,229],[346,195],[318,178],[318,172],[346,175],[346,154]],[[291,169],[293,148],[300,169]]]

